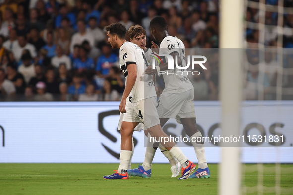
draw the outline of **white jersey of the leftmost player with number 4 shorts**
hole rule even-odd
[[[126,78],[126,83],[128,76],[127,66],[129,64],[136,64],[137,69],[137,77],[129,94],[129,101],[134,103],[157,96],[152,75],[144,73],[147,66],[149,66],[144,51],[134,43],[125,42],[120,47],[120,68]]]

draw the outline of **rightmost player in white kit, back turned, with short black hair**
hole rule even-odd
[[[178,65],[186,66],[184,44],[177,37],[168,35],[168,25],[165,19],[161,16],[154,17],[150,22],[150,28],[153,37],[160,43],[159,56],[161,54],[168,54],[174,59],[177,56]],[[196,141],[196,138],[202,137],[202,135],[197,129],[195,120],[193,86],[186,72],[184,73],[184,71],[178,69],[175,64],[174,69],[168,69],[168,63],[156,66],[155,69],[149,66],[145,70],[145,73],[152,75],[160,71],[166,73],[161,74],[165,82],[165,88],[160,95],[157,106],[161,126],[163,127],[169,118],[175,118],[178,123],[183,124],[198,159],[198,169],[190,175],[190,178],[210,178],[211,174],[207,165],[203,139],[198,139],[202,142]],[[180,72],[180,74],[174,74],[175,72]],[[148,158],[145,158],[143,163],[145,170],[150,169],[154,154],[155,151],[152,150],[152,148],[146,148],[146,155],[148,155]],[[129,172],[132,170],[129,170]]]

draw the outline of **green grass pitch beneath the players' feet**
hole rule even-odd
[[[249,169],[251,165],[245,165]],[[275,165],[264,165],[274,169]],[[133,164],[132,168],[137,167]],[[291,167],[293,165],[281,165]],[[152,177],[105,180],[118,164],[0,164],[0,195],[31,194],[217,194],[218,165],[210,164],[211,178],[177,180],[171,178],[169,164],[153,164]],[[257,185],[257,172],[243,174],[247,187]],[[293,172],[281,172],[281,187],[293,187]],[[233,173],[227,173],[232,177]],[[264,186],[275,186],[274,174],[264,173]],[[275,194],[275,193],[272,193]]]

